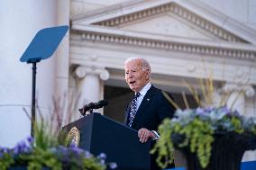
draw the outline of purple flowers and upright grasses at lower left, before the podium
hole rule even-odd
[[[34,139],[19,142],[14,148],[1,148],[0,169],[8,170],[13,167],[27,167],[28,170],[105,170],[116,168],[115,163],[106,163],[104,153],[95,157],[81,148],[77,148],[64,131],[61,131],[62,122],[72,120],[74,109],[69,105],[69,114],[65,119],[60,102],[54,102],[54,112],[50,114],[50,121],[45,121],[41,111],[39,121],[35,123]],[[24,112],[29,116],[28,112]],[[67,144],[70,144],[67,146]]]

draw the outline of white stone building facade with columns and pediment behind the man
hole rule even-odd
[[[216,103],[219,95],[229,93],[229,105],[234,103],[243,115],[256,116],[254,1],[40,2],[4,1],[0,5],[5,7],[0,12],[4,21],[0,141],[4,145],[12,146],[30,132],[23,108],[30,111],[31,66],[18,59],[36,31],[61,24],[69,24],[69,33],[55,55],[38,66],[42,111],[52,105],[52,95],[55,99],[66,96],[66,103],[78,98],[77,108],[106,98],[109,105],[97,112],[122,121],[131,96],[123,62],[142,57],[151,63],[153,85],[180,96],[187,92],[184,81],[199,88],[197,79],[211,76]],[[21,5],[14,9],[14,4]],[[15,135],[17,130],[22,132]],[[254,153],[244,156],[251,159],[256,159]]]

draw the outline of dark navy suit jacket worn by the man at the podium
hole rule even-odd
[[[125,111],[125,124],[128,124],[130,107]],[[132,129],[140,130],[146,128],[147,130],[158,130],[158,126],[165,118],[172,118],[175,108],[162,94],[161,90],[151,85],[147,94],[144,96],[138,111],[133,120]]]

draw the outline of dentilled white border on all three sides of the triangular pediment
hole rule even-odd
[[[192,7],[191,7],[192,6]],[[197,10],[197,11],[195,11]],[[200,13],[197,13],[200,11]],[[198,40],[177,40],[174,37],[160,39],[154,34],[143,34],[135,31],[123,31],[119,27],[139,20],[145,20],[162,13],[172,13],[178,17],[192,23],[198,28],[208,31],[219,41],[213,45],[206,41]],[[205,18],[206,19],[205,19]],[[191,1],[143,1],[132,3],[131,5],[115,6],[114,8],[105,8],[100,13],[91,13],[80,19],[72,19],[72,32],[81,35],[81,40],[101,41],[105,43],[114,43],[120,45],[133,45],[145,48],[155,48],[164,50],[177,50],[187,53],[204,54],[206,56],[221,56],[227,58],[242,58],[254,60],[256,58],[256,49],[250,46],[248,40],[244,40],[231,31],[227,31],[224,22],[234,30],[241,30],[243,25],[231,22],[229,18],[224,20],[225,15],[214,14],[211,9],[207,9],[202,4],[195,4]],[[215,21],[215,22],[212,22]],[[223,21],[224,20],[224,21]],[[218,21],[218,22],[217,22]],[[223,21],[223,24],[219,22]],[[233,23],[233,24],[231,24]],[[251,30],[243,28],[242,31],[249,33],[254,37]],[[234,31],[236,32],[236,31]],[[240,31],[237,32],[240,35]],[[251,33],[251,34],[250,34]],[[247,35],[247,34],[246,34]],[[238,42],[238,43],[237,43]],[[226,43],[229,43],[226,45]],[[210,44],[210,45],[209,45]],[[245,48],[240,48],[247,45]],[[237,48],[238,47],[238,48]]]

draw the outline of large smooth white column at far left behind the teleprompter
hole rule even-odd
[[[13,147],[27,138],[31,121],[32,65],[19,59],[37,31],[56,24],[57,1],[0,1],[0,145]],[[37,65],[36,94],[41,111],[49,111],[54,92],[55,58]]]

